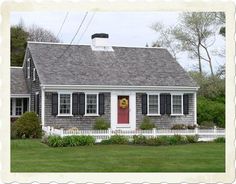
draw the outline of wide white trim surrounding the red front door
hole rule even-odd
[[[118,124],[118,96],[129,96],[129,124]],[[111,129],[136,129],[136,93],[116,91],[111,92]]]

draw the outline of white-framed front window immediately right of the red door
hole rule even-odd
[[[148,94],[147,105],[148,115],[160,115],[160,95]]]

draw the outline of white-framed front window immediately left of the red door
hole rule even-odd
[[[85,95],[85,114],[98,115],[98,94]]]

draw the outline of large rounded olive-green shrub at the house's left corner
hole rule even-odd
[[[26,112],[16,120],[12,127],[18,138],[40,138],[42,128],[39,118],[34,112]]]

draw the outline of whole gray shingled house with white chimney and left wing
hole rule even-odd
[[[145,116],[158,128],[197,123],[197,85],[164,48],[28,42],[23,67],[11,68],[11,116],[35,111],[43,126],[138,129]]]

